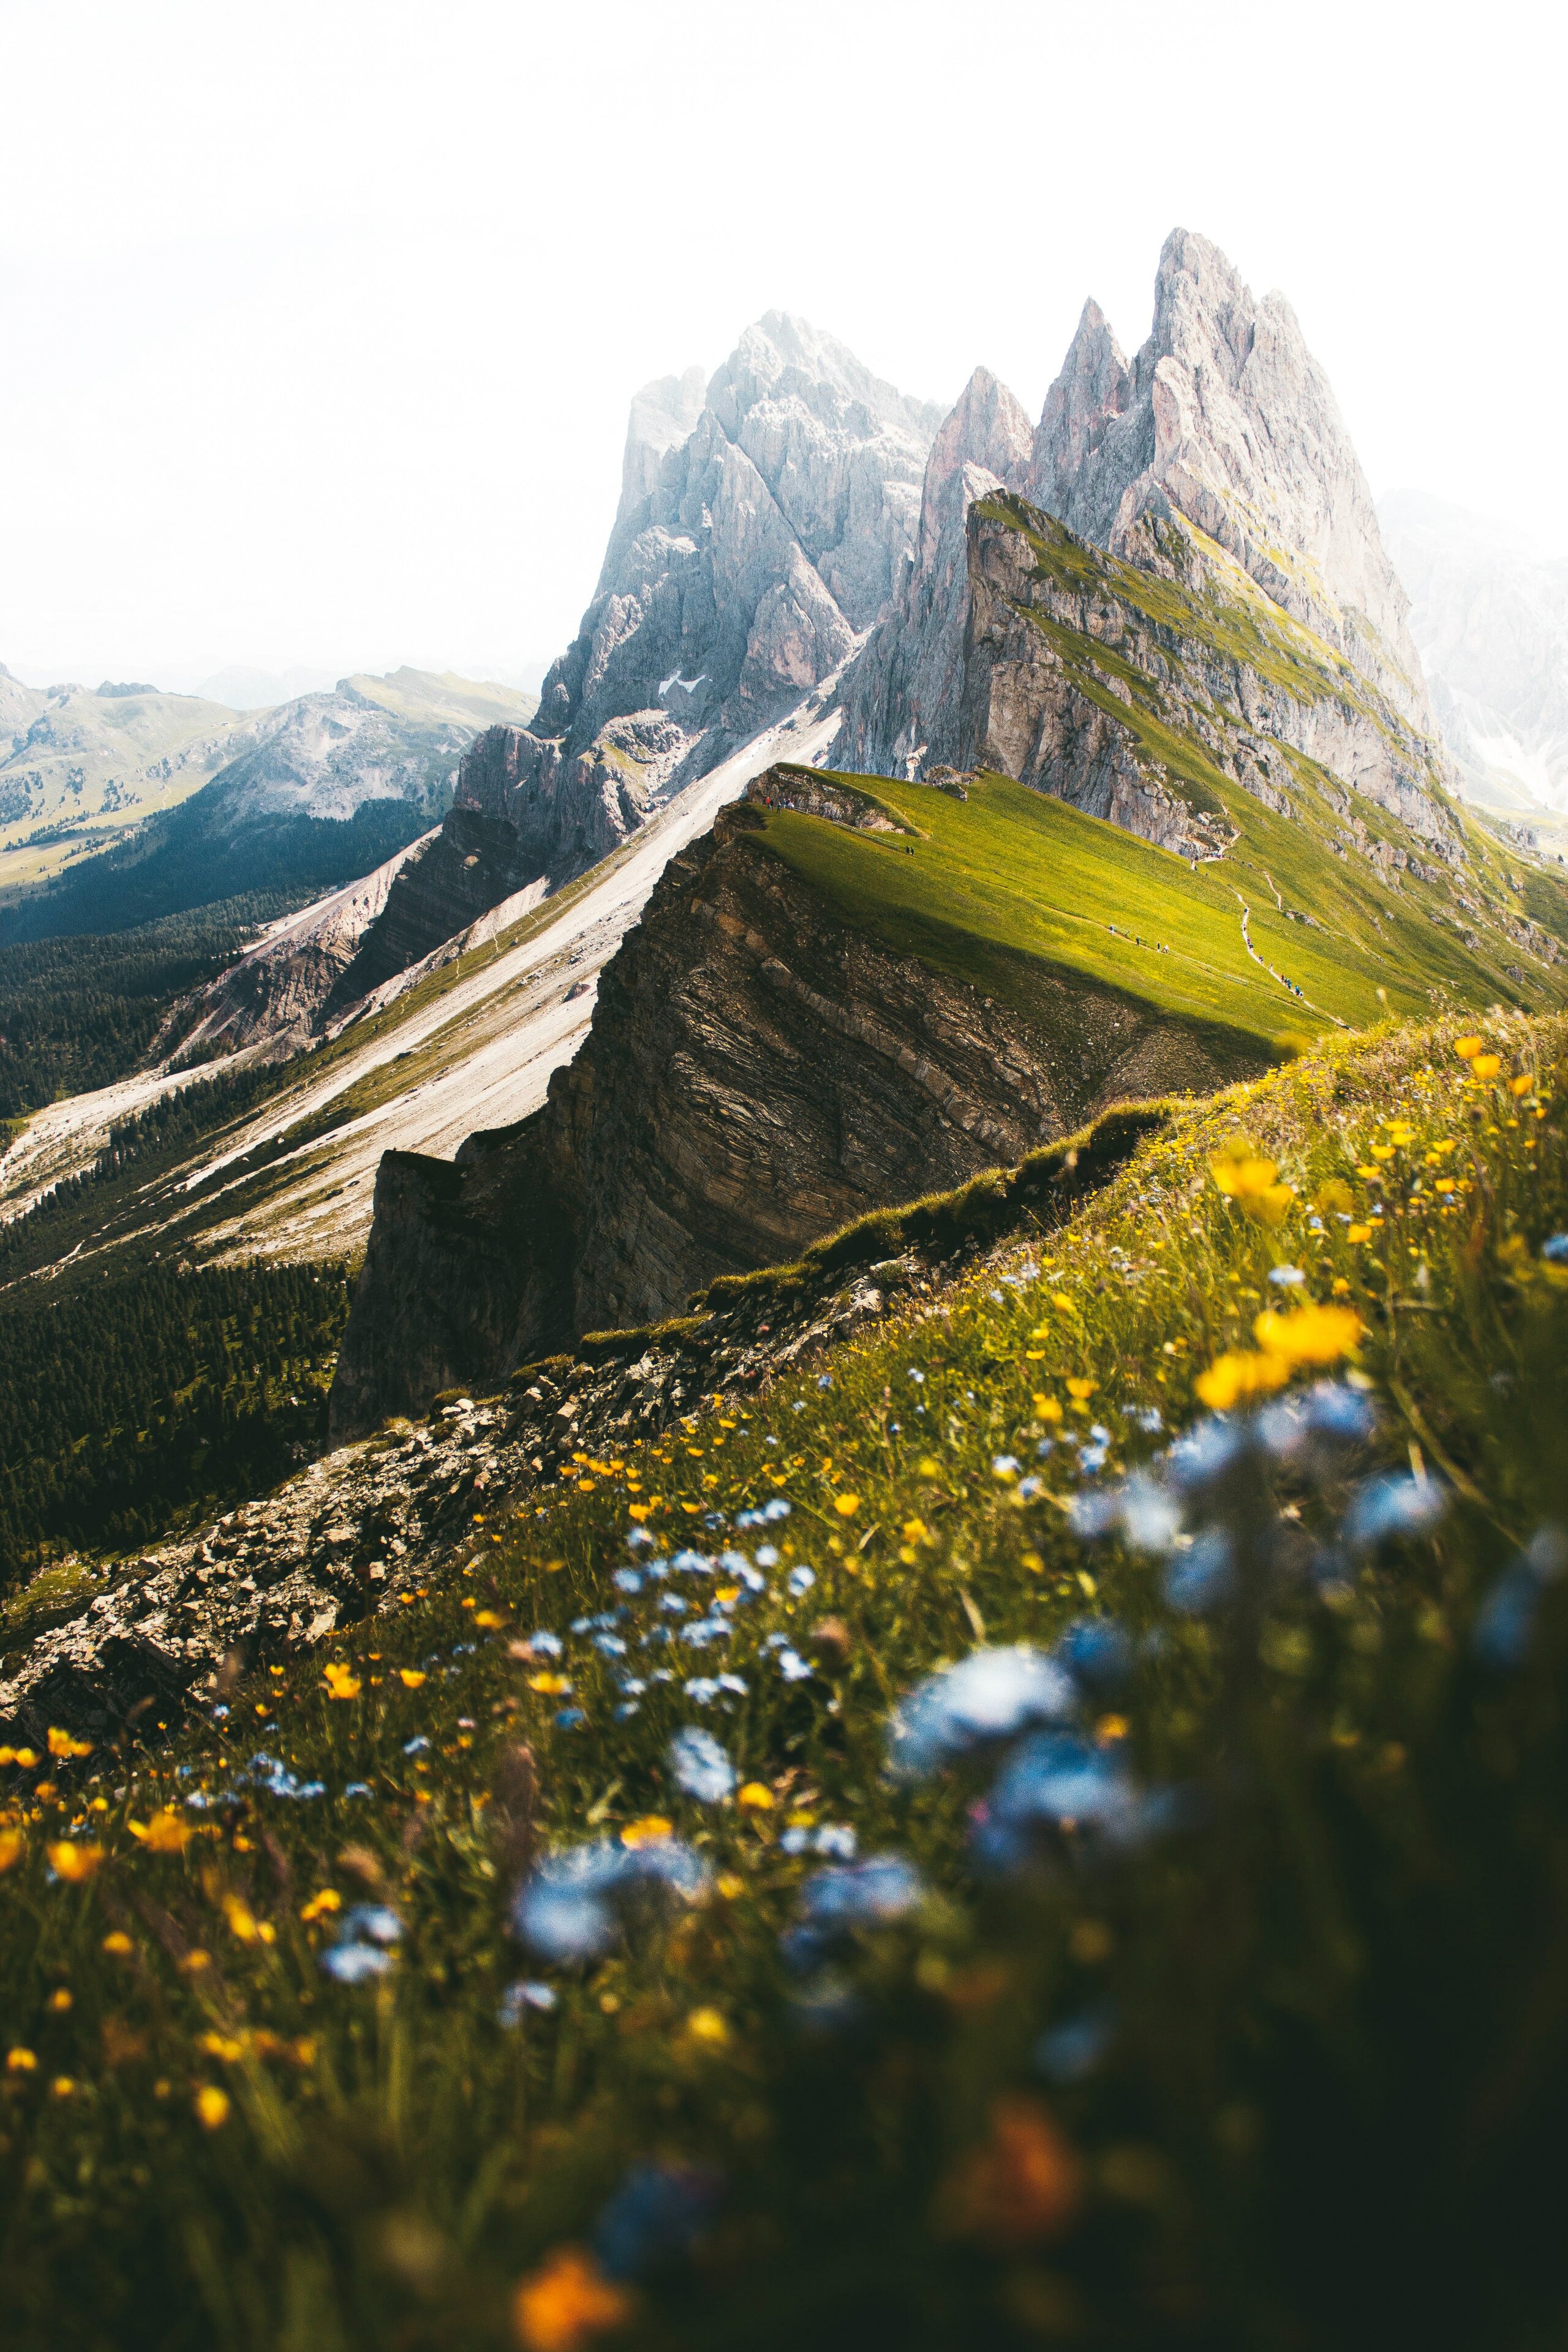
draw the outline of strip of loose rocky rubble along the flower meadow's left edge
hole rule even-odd
[[[799,1263],[719,1279],[693,1312],[609,1331],[520,1369],[501,1395],[440,1397],[421,1423],[313,1463],[275,1494],[85,1576],[0,1651],[0,1740],[68,1726],[94,1743],[174,1724],[240,1665],[282,1661],[395,1611],[588,1456],[658,1437],[703,1402],[755,1397],[825,1348],[943,1289],[1009,1235],[1063,1223],[1164,1124],[1133,1105],[954,1195],[865,1218]],[[266,1733],[263,1733],[266,1736]]]

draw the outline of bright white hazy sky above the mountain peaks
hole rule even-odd
[[[1178,221],[1375,492],[1568,548],[1566,66],[1497,5],[0,0],[0,661],[543,663],[644,379],[783,306],[1037,412]]]

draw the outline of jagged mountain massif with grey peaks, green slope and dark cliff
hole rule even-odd
[[[985,369],[940,416],[769,313],[632,402],[536,713],[400,680],[270,715],[162,844],[94,861],[209,889],[268,828],[360,828],[143,1075],[0,1162],[14,1214],[273,1063],[94,1247],[369,1244],[341,1430],[1128,1091],[1563,988],[1561,891],[1453,790],[1321,369],[1182,230],[1138,355],[1088,303],[1037,423]]]

